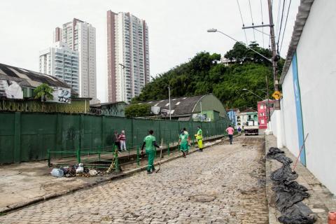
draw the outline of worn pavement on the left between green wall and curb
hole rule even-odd
[[[207,141],[210,140],[213,141],[204,143],[204,148],[221,141],[219,139],[209,139]],[[195,151],[197,149],[190,149],[190,153]],[[179,151],[172,151],[169,156],[167,153],[162,153],[162,155],[164,155],[164,158],[162,158],[161,163],[169,162],[182,156]],[[158,162],[159,158],[155,160],[155,165],[158,165]],[[141,172],[146,169],[147,158],[140,161],[139,167],[135,161],[132,164],[121,165],[123,172],[119,174],[111,173],[88,178],[83,176],[55,178],[50,175],[52,168],[48,167],[47,164],[48,162],[43,160],[40,162],[24,162],[0,166],[0,214]]]

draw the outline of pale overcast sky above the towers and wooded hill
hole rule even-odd
[[[253,22],[267,24],[267,0],[250,0]],[[280,0],[273,0],[274,23],[277,25]],[[262,13],[261,4],[262,3]],[[283,1],[281,1],[283,2]],[[288,6],[286,1],[286,7]],[[290,6],[286,32],[281,48],[285,57],[293,31],[299,0]],[[248,0],[239,0],[246,26],[252,18]],[[235,43],[219,33],[207,33],[217,28],[245,42],[237,0],[8,0],[0,1],[0,63],[38,71],[38,52],[52,44],[55,27],[78,18],[91,23],[97,32],[97,94],[106,102],[106,11],[130,12],[146,20],[149,29],[151,76],[163,73],[187,62],[197,52],[218,52],[223,55]],[[284,10],[283,26],[286,20]],[[280,12],[281,18],[281,12]],[[280,20],[280,19],[279,19]],[[261,30],[261,28],[260,28]],[[264,28],[269,33],[268,28]],[[262,34],[246,30],[248,41],[262,46]],[[269,37],[264,35],[265,48]]]

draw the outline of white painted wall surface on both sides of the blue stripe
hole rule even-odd
[[[336,1],[314,1],[309,18],[297,45],[297,70],[300,81],[304,135],[309,133],[305,148],[307,168],[336,194],[336,120],[328,126],[324,118],[336,111]],[[297,123],[293,96],[292,69],[283,83],[283,119],[286,146],[297,155]],[[329,120],[329,119],[328,119]],[[274,128],[273,128],[274,130]]]

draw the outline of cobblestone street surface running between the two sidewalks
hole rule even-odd
[[[0,223],[268,223],[261,137],[239,137],[118,181],[58,197]]]

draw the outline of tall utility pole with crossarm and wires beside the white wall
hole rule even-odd
[[[275,35],[274,35],[274,24],[273,24],[273,11],[272,2],[267,0],[268,3],[268,15],[269,15],[269,32],[271,34],[271,49],[272,49],[272,66],[273,66],[273,78],[274,78],[274,91],[279,90],[279,80],[278,80],[278,56],[276,55],[275,48]],[[280,101],[276,100],[274,105],[275,110],[280,110]]]

